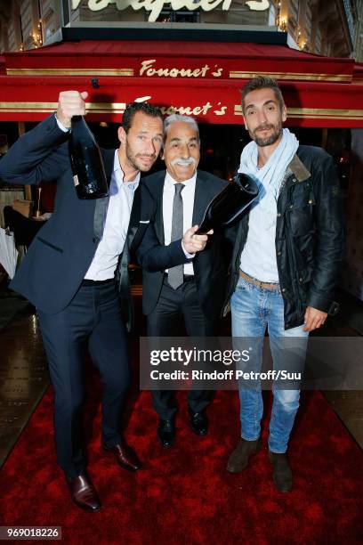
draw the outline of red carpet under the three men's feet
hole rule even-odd
[[[88,403],[89,468],[103,508],[87,514],[70,503],[55,465],[48,392],[0,473],[0,524],[61,526],[68,543],[361,542],[363,456],[322,395],[303,396],[291,442],[295,488],[290,494],[275,492],[271,483],[266,430],[251,468],[238,476],[225,470],[238,438],[236,392],[216,396],[206,438],[186,425],[185,392],[179,400],[177,443],[171,450],[157,443],[149,393],[133,400],[126,438],[144,462],[137,475],[100,451],[100,411]]]

